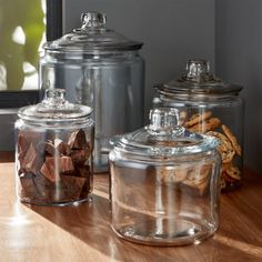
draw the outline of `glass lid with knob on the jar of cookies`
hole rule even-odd
[[[239,94],[241,85],[223,82],[214,77],[210,69],[210,62],[203,59],[189,60],[187,71],[182,77],[164,84],[155,87],[165,95],[212,95],[212,94]]]

